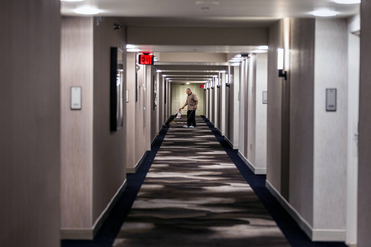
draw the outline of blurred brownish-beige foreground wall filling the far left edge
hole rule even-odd
[[[59,9],[0,3],[0,246],[59,246]]]

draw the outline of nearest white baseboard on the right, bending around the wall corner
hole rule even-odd
[[[289,204],[288,201],[286,201],[285,198],[281,196],[268,180],[265,181],[265,186],[312,241],[345,241],[345,230],[313,229],[313,227]]]

